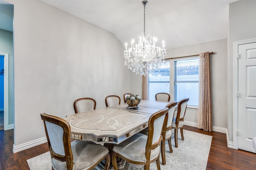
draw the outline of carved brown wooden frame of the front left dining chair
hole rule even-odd
[[[56,160],[59,160],[61,162],[66,161],[67,170],[73,170],[74,162],[73,162],[73,154],[72,154],[71,143],[70,143],[70,125],[69,125],[69,123],[67,121],[65,121],[64,119],[61,119],[59,117],[52,116],[52,115],[47,115],[46,113],[41,113],[41,119],[44,121],[44,129],[46,132],[46,137],[47,137],[51,157]],[[54,150],[52,150],[52,145],[51,145],[51,142],[50,142],[50,139],[48,136],[48,130],[46,128],[45,121],[54,123],[55,125],[62,127],[62,129],[63,129],[63,145],[64,145],[65,155],[57,154],[54,152]],[[100,159],[98,162],[96,162],[90,168],[90,170],[93,169],[95,166],[97,166],[104,159],[105,159],[104,170],[107,170],[110,165],[110,155],[109,154],[106,154],[102,159]]]

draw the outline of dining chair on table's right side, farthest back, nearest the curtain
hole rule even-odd
[[[183,136],[183,121],[186,113],[186,108],[189,98],[182,99],[178,103],[177,114],[174,114],[172,121],[172,128],[174,129],[175,147],[178,148],[178,130],[180,129],[181,139],[184,140]]]

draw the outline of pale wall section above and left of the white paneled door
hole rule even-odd
[[[256,38],[255,9],[254,0],[239,0],[229,5],[228,134],[230,141],[233,141],[233,42]]]

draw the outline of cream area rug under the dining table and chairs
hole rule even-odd
[[[172,150],[170,153],[168,142],[166,141],[166,165],[162,165],[160,154],[161,170],[205,170],[210,152],[212,136],[183,130],[184,140],[181,140],[180,130],[178,134],[178,148],[175,148],[172,137]],[[174,136],[174,133],[172,133]],[[51,170],[50,152],[28,159],[31,170]],[[96,168],[98,170],[99,168]],[[129,164],[128,170],[143,170],[144,166]],[[150,164],[150,170],[157,170],[156,162]]]

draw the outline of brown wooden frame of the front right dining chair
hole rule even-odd
[[[151,150],[157,148],[160,145],[160,142],[163,138],[163,142],[165,142],[165,133],[166,133],[166,125],[167,125],[167,120],[168,120],[168,108],[162,109],[156,113],[154,113],[153,115],[151,115],[151,117],[148,120],[148,138],[147,138],[147,143],[146,143],[146,152],[145,152],[145,156],[146,156],[146,162],[135,162],[133,160],[130,160],[116,152],[113,151],[112,153],[112,164],[114,167],[114,170],[117,170],[117,162],[116,162],[116,157],[120,157],[124,160],[126,160],[127,162],[130,162],[132,164],[140,164],[140,165],[144,165],[144,170],[149,170],[150,168],[150,164],[154,161],[156,161],[156,165],[157,165],[157,169],[160,170],[160,160],[159,160],[159,154],[156,158],[154,158],[153,160],[150,161],[150,154],[151,154]],[[163,136],[160,136],[159,140],[156,143],[152,143],[153,140],[153,132],[154,132],[154,121],[161,117],[162,115],[165,115],[164,118],[164,124],[162,127],[162,133]]]

